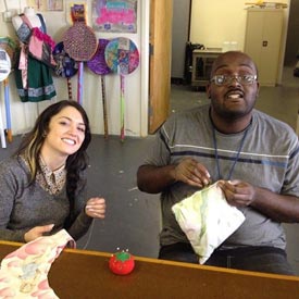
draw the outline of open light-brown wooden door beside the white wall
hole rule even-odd
[[[153,134],[170,113],[173,1],[150,2],[149,133]]]

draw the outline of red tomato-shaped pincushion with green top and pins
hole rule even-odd
[[[112,254],[109,260],[109,267],[114,274],[129,274],[135,266],[134,258],[130,253],[121,251]]]

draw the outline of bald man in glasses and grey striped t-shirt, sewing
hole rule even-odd
[[[139,189],[161,192],[159,258],[198,263],[171,208],[221,179],[227,202],[246,220],[205,264],[294,275],[281,223],[299,221],[298,138],[287,124],[253,108],[258,70],[247,54],[221,54],[207,92],[209,105],[163,124],[138,169]]]

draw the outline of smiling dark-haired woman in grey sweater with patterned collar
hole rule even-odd
[[[75,101],[48,107],[18,150],[0,163],[0,239],[28,242],[65,228],[80,238],[103,198],[85,200],[89,121]]]

